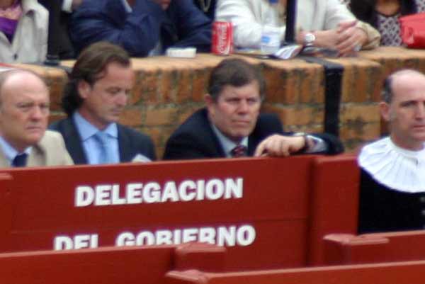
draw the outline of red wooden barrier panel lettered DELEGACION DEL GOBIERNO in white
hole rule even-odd
[[[1,251],[207,242],[230,268],[303,264],[312,157],[13,169]],[[7,196],[7,200],[6,200]],[[4,242],[1,241],[4,239]],[[272,240],[272,242],[271,242]],[[246,256],[256,255],[253,260]]]

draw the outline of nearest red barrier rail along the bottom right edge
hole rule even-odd
[[[423,284],[425,261],[203,273],[171,271],[164,284]]]

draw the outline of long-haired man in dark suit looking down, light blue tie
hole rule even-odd
[[[98,42],[81,52],[62,98],[68,118],[50,126],[62,133],[75,164],[155,159],[147,135],[117,123],[134,80],[130,57],[121,47]]]

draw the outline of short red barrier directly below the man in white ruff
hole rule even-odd
[[[425,232],[329,234],[324,251],[328,264],[420,260],[425,259]]]

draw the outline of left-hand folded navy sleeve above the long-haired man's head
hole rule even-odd
[[[118,1],[118,0],[115,0]],[[111,3],[111,2],[110,2]],[[164,18],[162,6],[154,1],[137,0],[127,13],[120,3],[84,1],[72,16],[71,38],[77,50],[106,40],[120,45],[133,57],[145,57],[159,42]],[[111,8],[117,11],[111,11]]]

